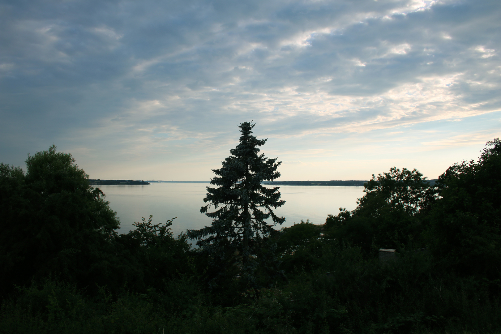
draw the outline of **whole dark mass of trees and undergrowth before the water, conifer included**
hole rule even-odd
[[[253,126],[214,170],[202,208],[213,224],[188,232],[198,248],[172,219],[118,234],[104,194],[55,146],[26,172],[1,164],[0,332],[501,330],[499,139],[434,184],[391,168],[353,211],[276,230],[265,219],[280,224],[283,201],[260,181],[280,163],[257,154]],[[380,248],[395,258],[380,263]]]

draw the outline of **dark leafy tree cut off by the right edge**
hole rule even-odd
[[[477,161],[440,175],[431,213],[434,257],[465,275],[501,274],[501,141],[488,141]]]

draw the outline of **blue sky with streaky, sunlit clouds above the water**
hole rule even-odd
[[[430,179],[501,135],[498,0],[0,0],[0,161],[209,180],[256,124],[281,180]]]

